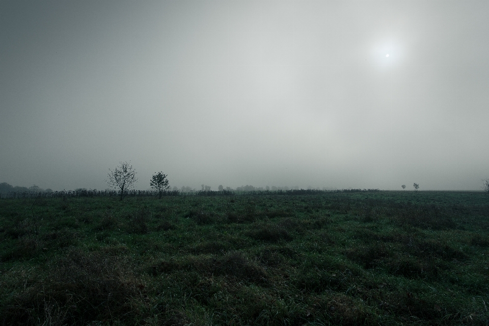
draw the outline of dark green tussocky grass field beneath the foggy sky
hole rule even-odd
[[[482,192],[0,199],[4,325],[489,324]]]

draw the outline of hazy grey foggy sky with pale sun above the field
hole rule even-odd
[[[477,190],[489,1],[0,0],[0,182]]]

